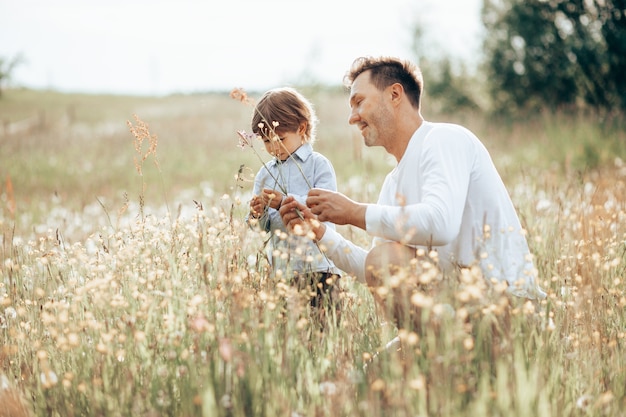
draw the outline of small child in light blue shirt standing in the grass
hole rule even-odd
[[[287,233],[278,212],[287,195],[304,203],[312,187],[337,190],[332,164],[313,150],[317,122],[312,104],[293,88],[272,89],[261,97],[252,131],[274,158],[256,175],[247,221],[270,232],[267,255],[273,270],[293,277],[299,290],[311,294],[314,314],[323,319],[325,297],[329,305],[337,301],[333,293],[339,270],[310,238]]]

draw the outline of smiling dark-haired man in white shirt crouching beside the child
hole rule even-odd
[[[367,146],[382,146],[398,164],[387,175],[378,202],[353,201],[312,189],[306,206],[285,199],[280,214],[291,230],[302,219],[313,227],[326,255],[342,270],[376,289],[400,267],[436,251],[440,269],[480,266],[490,283],[505,283],[516,296],[543,298],[524,230],[488,151],[462,126],[432,123],[421,115],[423,81],[414,64],[363,57],[346,74],[349,123]],[[373,236],[365,250],[322,222],[353,225]],[[422,249],[419,251],[419,249]],[[419,271],[418,271],[419,273]],[[394,289],[396,322],[414,312],[406,288]]]

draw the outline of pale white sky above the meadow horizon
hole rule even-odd
[[[471,59],[481,0],[0,0],[0,57],[14,83],[117,94],[340,84],[354,58],[433,51]],[[428,51],[430,52],[430,51]]]

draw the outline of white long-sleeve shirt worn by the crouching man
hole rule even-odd
[[[438,252],[449,271],[478,263],[485,279],[509,292],[542,298],[524,230],[487,149],[466,128],[424,122],[387,175],[377,204],[367,206],[372,245],[382,241]],[[342,270],[365,279],[368,251],[327,229],[320,240]]]

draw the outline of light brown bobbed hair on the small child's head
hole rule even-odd
[[[268,90],[252,113],[252,131],[264,138],[283,132],[297,132],[306,123],[305,140],[315,141],[317,115],[311,102],[291,87]],[[278,123],[278,124],[276,124]]]

